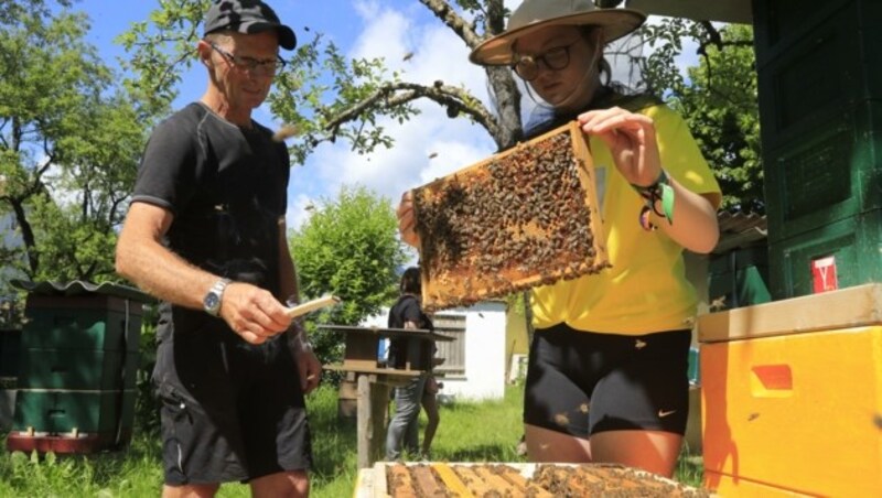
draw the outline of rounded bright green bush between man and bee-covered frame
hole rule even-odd
[[[316,313],[313,322],[357,325],[395,297],[396,270],[406,261],[391,203],[365,187],[343,187],[321,199],[290,238],[301,299],[332,293],[343,303]],[[342,337],[310,331],[323,364],[342,358]]]

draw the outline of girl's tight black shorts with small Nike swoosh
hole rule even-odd
[[[690,331],[594,334],[560,324],[530,347],[524,422],[579,437],[686,432]]]

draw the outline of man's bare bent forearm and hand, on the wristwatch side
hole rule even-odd
[[[168,209],[132,203],[117,241],[116,270],[155,297],[202,310],[203,297],[220,277],[194,267],[162,245],[173,219]],[[284,306],[270,292],[238,282],[224,292],[219,316],[252,344],[263,343],[290,325]]]

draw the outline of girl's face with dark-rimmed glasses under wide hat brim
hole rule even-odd
[[[600,86],[599,36],[589,42],[582,33],[577,26],[547,26],[515,44],[515,72],[558,110],[584,108]]]

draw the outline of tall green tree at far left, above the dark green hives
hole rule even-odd
[[[115,279],[114,228],[146,123],[84,42],[88,19],[25,3],[0,10],[0,216],[21,240],[0,250],[0,267],[32,280]]]

